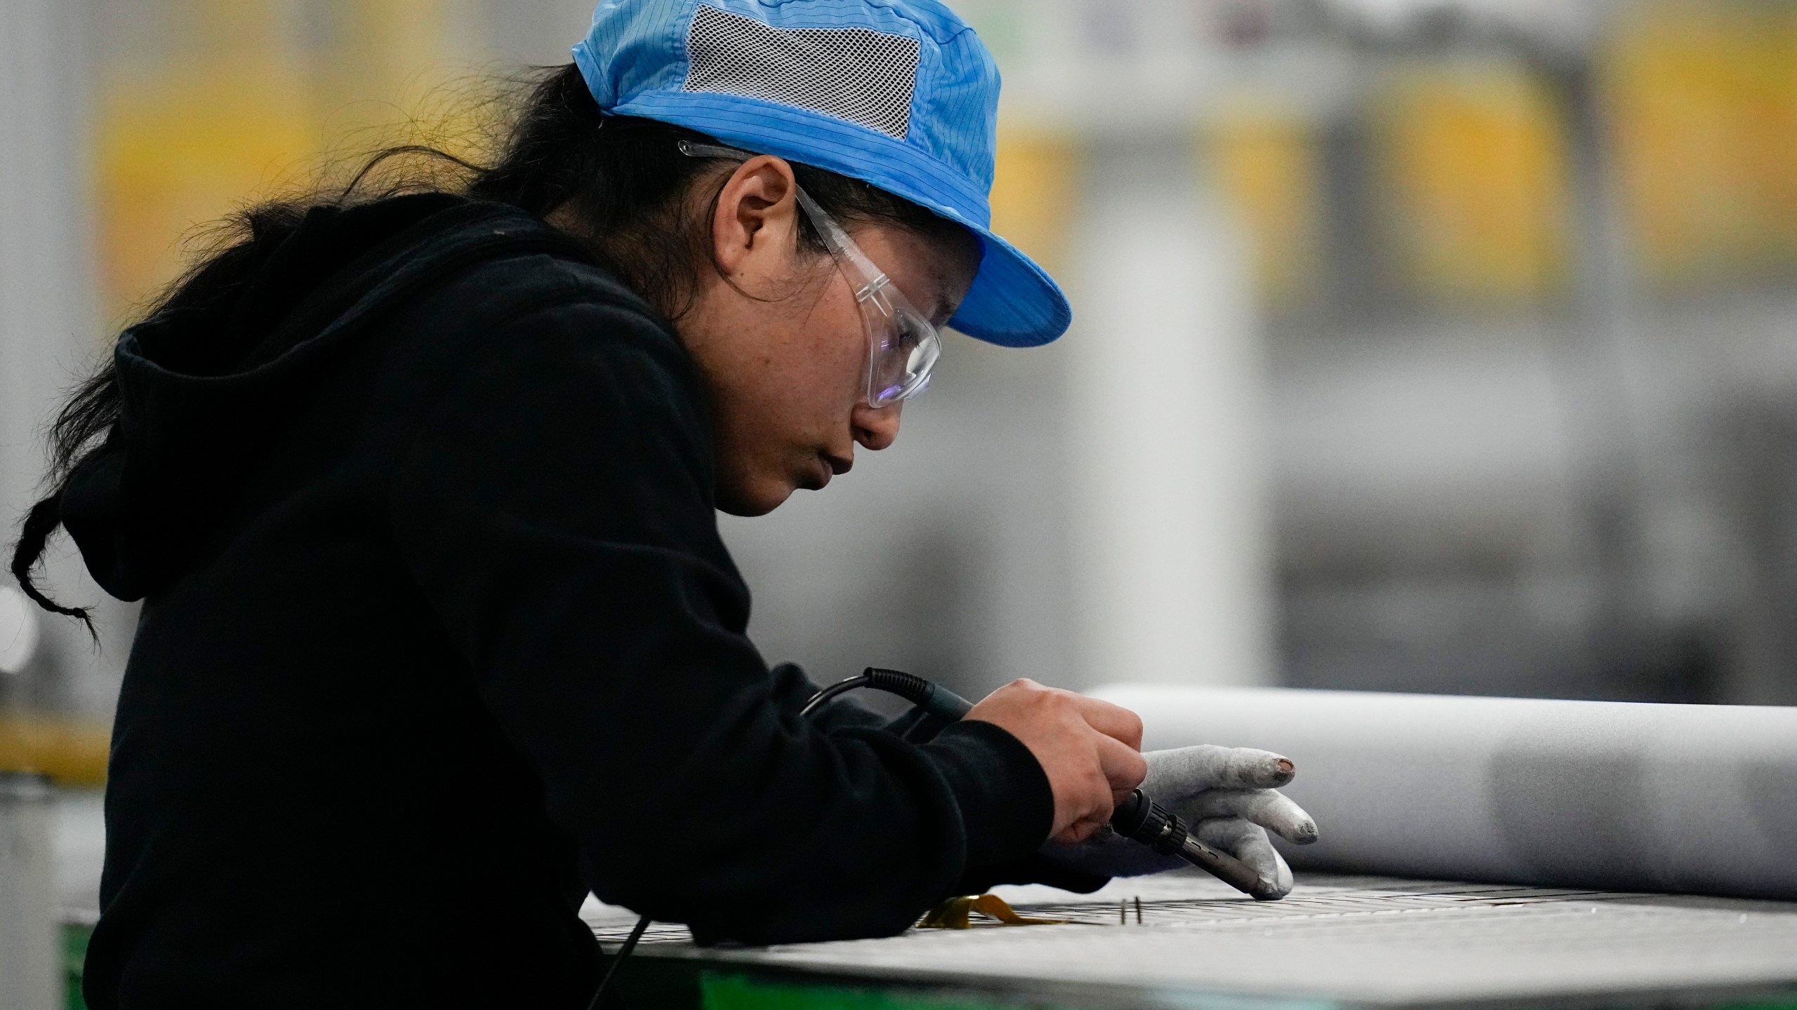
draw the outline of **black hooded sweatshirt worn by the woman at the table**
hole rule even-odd
[[[243,270],[120,338],[120,430],[61,501],[146,600],[90,1006],[573,1008],[588,890],[767,944],[1039,875],[1015,737],[798,719],[692,361],[577,244],[412,196]]]

